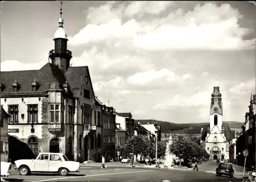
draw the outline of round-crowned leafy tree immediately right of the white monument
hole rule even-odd
[[[193,149],[194,143],[179,135],[178,137],[173,138],[173,143],[169,146],[170,153],[173,153],[177,157],[180,158],[180,166],[181,166],[181,159],[187,159],[193,155],[195,151]]]

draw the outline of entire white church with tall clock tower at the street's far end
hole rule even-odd
[[[226,123],[223,123],[223,105],[219,83],[215,82],[211,94],[209,124],[201,129],[201,145],[210,155],[210,160],[229,159],[229,143],[234,138]]]

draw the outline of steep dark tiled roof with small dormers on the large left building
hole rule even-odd
[[[13,92],[12,84],[15,80],[20,85],[18,93],[32,92],[31,84],[35,80],[39,85],[36,92],[44,92],[51,84],[55,85],[55,88],[63,89],[62,85],[67,81],[73,96],[79,97],[85,74],[89,77],[93,92],[88,66],[69,67],[66,73],[62,73],[57,65],[48,62],[39,70],[1,72],[1,83],[5,86],[1,95]]]

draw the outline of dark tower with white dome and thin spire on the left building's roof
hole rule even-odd
[[[72,52],[67,49],[68,36],[66,31],[63,29],[61,5],[62,2],[60,2],[59,28],[56,30],[53,39],[55,48],[49,52],[49,58],[52,60],[52,64],[58,65],[62,72],[66,72],[70,66]]]

